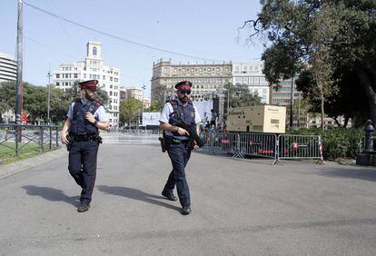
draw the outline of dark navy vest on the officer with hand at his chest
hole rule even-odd
[[[95,111],[101,106],[98,102],[86,102],[82,103],[81,99],[74,101],[73,120],[69,133],[73,134],[98,134],[98,128],[94,123],[90,123],[85,118],[85,113],[95,113]]]

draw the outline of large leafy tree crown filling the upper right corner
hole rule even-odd
[[[338,95],[355,91],[367,98],[368,107],[363,112],[371,113],[376,123],[376,1],[295,3],[262,0],[257,19],[245,23],[254,29],[251,39],[266,34],[272,43],[262,54],[268,81],[275,83],[310,70],[312,83],[305,86],[312,94],[319,93],[322,112],[324,102],[331,101],[332,108],[341,102],[333,101]],[[356,90],[341,87],[346,84],[346,74],[357,76],[357,82],[351,84]]]

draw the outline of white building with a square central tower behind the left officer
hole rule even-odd
[[[53,83],[60,89],[72,88],[76,81],[96,79],[99,87],[107,92],[109,103],[105,106],[110,124],[119,122],[120,104],[120,70],[116,67],[104,65],[102,58],[102,44],[89,41],[86,44],[86,58],[73,64],[59,64],[54,71]]]

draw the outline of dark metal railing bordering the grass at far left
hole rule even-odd
[[[37,144],[40,152],[59,146],[59,126],[0,123],[0,147],[15,150],[18,156],[29,144]]]

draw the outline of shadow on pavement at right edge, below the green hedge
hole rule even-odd
[[[360,169],[328,169],[326,171],[315,172],[322,176],[328,177],[339,177],[347,179],[359,179],[369,182],[376,182],[376,171],[375,170],[360,170]]]

